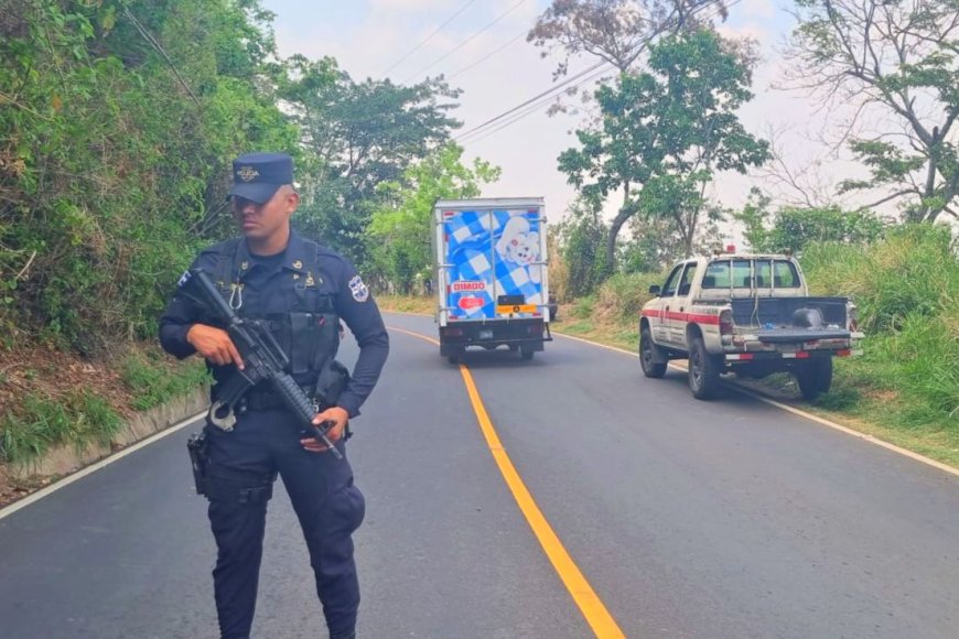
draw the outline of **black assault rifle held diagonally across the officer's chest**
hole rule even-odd
[[[293,378],[284,372],[290,360],[266,322],[244,320],[237,315],[203,269],[188,271],[182,291],[223,323],[245,365],[243,370],[236,368],[223,388],[217,389],[216,401],[209,407],[209,421],[224,431],[231,431],[236,424],[234,411],[239,400],[248,390],[263,383],[272,388],[282,404],[297,416],[308,433],[323,443],[334,457],[342,459],[343,455],[326,436],[335,422],[326,420],[317,426],[313,423],[313,418],[320,412],[321,405],[326,409],[336,401],[336,396],[345,386],[345,377],[338,373],[346,372],[345,368],[335,361],[332,364],[338,366],[338,369],[327,366],[317,383],[322,397],[317,397],[315,402],[311,401]],[[331,377],[335,380],[331,381]],[[338,388],[331,388],[337,382]]]

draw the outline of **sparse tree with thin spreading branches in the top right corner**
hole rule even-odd
[[[899,201],[907,221],[959,217],[959,3],[797,0],[796,17],[791,86],[854,109],[843,136],[872,173],[840,187],[890,189],[871,206]]]

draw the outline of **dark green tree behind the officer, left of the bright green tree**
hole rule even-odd
[[[280,96],[311,155],[300,172],[301,224],[364,264],[367,226],[381,204],[377,186],[401,180],[450,139],[460,126],[448,115],[459,91],[441,79],[356,83],[332,58],[293,56]]]

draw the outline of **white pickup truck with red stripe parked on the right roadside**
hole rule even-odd
[[[809,296],[789,254],[690,258],[649,293],[639,317],[643,373],[661,378],[670,359],[688,359],[697,399],[714,397],[725,372],[758,379],[786,371],[811,401],[829,391],[833,357],[861,353],[855,305]]]

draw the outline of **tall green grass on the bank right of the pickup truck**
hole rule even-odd
[[[860,408],[896,427],[959,441],[959,258],[944,228],[909,226],[874,246],[810,246],[802,268],[816,294],[850,295],[866,334],[847,362]]]

